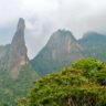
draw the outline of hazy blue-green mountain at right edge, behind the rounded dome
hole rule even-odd
[[[106,61],[106,35],[97,32],[87,32],[78,43],[83,47],[83,55]]]

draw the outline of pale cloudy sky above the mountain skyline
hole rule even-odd
[[[25,20],[28,55],[33,59],[59,29],[76,39],[88,31],[106,34],[106,0],[0,0],[0,44],[11,42],[19,18]]]

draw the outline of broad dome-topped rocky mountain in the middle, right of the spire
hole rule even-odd
[[[49,74],[81,57],[81,51],[82,46],[70,31],[57,30],[31,64],[40,75]]]

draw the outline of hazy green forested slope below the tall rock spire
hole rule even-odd
[[[30,65],[22,67],[17,80],[9,77],[7,71],[0,71],[0,106],[15,106],[17,98],[26,96],[38,77]]]

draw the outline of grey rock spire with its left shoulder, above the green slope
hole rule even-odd
[[[0,68],[7,71],[11,78],[17,78],[21,67],[29,64],[24,29],[24,20],[20,18],[11,44],[0,46]]]

